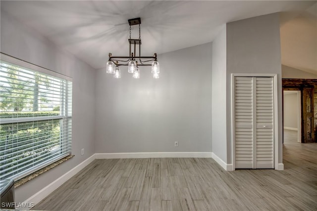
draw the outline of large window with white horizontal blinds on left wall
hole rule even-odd
[[[2,54],[0,179],[19,179],[71,153],[69,77]]]

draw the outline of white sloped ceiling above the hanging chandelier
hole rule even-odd
[[[294,14],[316,1],[3,1],[1,9],[31,26],[92,67],[106,65],[108,53],[128,56],[130,18],[141,17],[142,55],[152,56],[211,42],[221,25],[284,12]],[[291,14],[291,15],[290,15]],[[132,26],[132,39],[138,39]],[[283,56],[283,55],[282,55]],[[317,70],[316,70],[317,71]]]

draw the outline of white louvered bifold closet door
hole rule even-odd
[[[235,77],[235,168],[271,169],[273,78]]]

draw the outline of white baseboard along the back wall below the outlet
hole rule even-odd
[[[96,153],[96,159],[126,158],[211,158],[211,152],[132,152],[132,153]]]

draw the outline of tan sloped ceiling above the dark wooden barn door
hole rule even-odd
[[[280,33],[282,64],[317,75],[317,1],[282,22]]]

